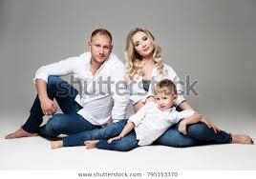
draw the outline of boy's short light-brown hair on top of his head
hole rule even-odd
[[[171,93],[177,94],[177,89],[171,80],[163,79],[155,87],[155,94],[157,95],[159,92],[164,92],[168,95]]]

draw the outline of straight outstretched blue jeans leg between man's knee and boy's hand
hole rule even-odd
[[[102,129],[93,129],[69,135],[63,138],[63,146],[82,146],[85,141],[115,137],[121,132],[126,123],[127,119],[123,119]]]

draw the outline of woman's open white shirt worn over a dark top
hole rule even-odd
[[[155,82],[159,82],[162,79],[170,79],[172,82],[174,82],[178,93],[178,98],[175,102],[175,105],[178,107],[181,102],[185,101],[182,95],[183,92],[181,88],[180,78],[178,77],[175,70],[173,70],[170,66],[166,64],[163,64],[163,70],[166,72],[160,75],[157,66],[155,66],[152,71],[151,79],[155,80]],[[132,101],[132,104],[135,105],[140,100],[145,101],[148,96],[154,95],[154,85],[156,84],[151,83],[149,86],[149,90],[145,91],[142,87],[142,76],[136,75],[135,79],[128,84],[130,100]]]

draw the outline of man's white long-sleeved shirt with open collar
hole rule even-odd
[[[50,75],[74,75],[82,89],[75,96],[75,101],[83,107],[77,111],[78,114],[94,125],[105,125],[112,119],[124,119],[129,105],[128,90],[119,88],[119,93],[116,90],[117,82],[123,82],[124,65],[114,53],[111,53],[95,75],[92,74],[90,67],[91,52],[85,52],[39,68],[36,70],[33,81],[38,78],[48,82]],[[111,89],[108,89],[107,85],[102,85],[102,91],[105,94],[100,94],[97,82],[100,78],[102,81],[108,81],[108,77],[111,77],[114,84],[111,84]],[[118,86],[121,85],[124,86],[123,83]],[[94,88],[96,92],[93,91]]]

